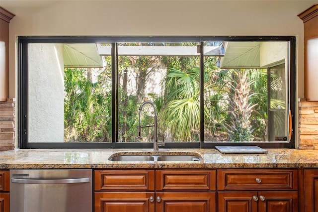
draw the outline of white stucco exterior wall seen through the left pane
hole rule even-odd
[[[63,44],[28,50],[28,141],[64,142]]]

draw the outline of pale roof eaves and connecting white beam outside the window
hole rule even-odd
[[[261,42],[225,42],[221,46],[205,46],[204,56],[216,56],[220,68],[260,68]],[[126,56],[199,56],[197,46],[118,46],[118,54]],[[104,55],[111,46],[100,44],[64,44],[64,65],[69,67],[103,67]]]

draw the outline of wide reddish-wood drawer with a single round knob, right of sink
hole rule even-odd
[[[296,190],[297,170],[218,170],[218,190]]]

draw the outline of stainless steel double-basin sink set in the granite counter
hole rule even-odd
[[[155,161],[201,161],[202,157],[196,153],[170,152],[169,154],[149,154],[145,152],[140,153],[115,153],[111,155],[108,160],[110,161],[137,161],[137,162],[155,162]]]

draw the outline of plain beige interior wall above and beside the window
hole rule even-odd
[[[304,97],[303,21],[314,0],[1,0],[10,22],[10,98],[16,36],[297,36],[298,98]]]

